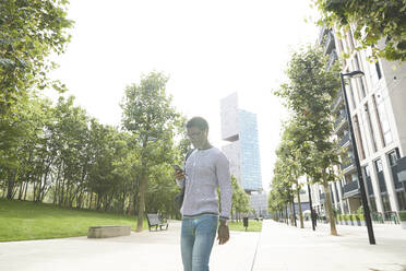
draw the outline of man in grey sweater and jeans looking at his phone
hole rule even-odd
[[[184,173],[181,170],[175,173],[178,185],[186,186],[180,210],[183,270],[208,271],[216,232],[219,245],[226,244],[229,239],[228,219],[232,196],[229,162],[220,150],[208,142],[208,123],[205,119],[201,117],[190,119],[187,130],[195,150],[186,161]],[[220,213],[217,187],[222,197]]]

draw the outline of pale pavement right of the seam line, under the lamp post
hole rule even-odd
[[[317,231],[264,221],[254,271],[406,271],[406,231],[399,225],[374,225],[378,245],[369,245],[367,228],[329,224]]]

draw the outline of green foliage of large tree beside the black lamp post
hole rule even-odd
[[[336,180],[330,168],[337,163],[339,149],[331,142],[333,118],[331,104],[339,92],[338,67],[326,69],[327,59],[312,47],[296,51],[288,63],[288,82],[275,94],[291,110],[285,123],[282,142],[276,150],[270,195],[271,211],[280,211],[300,189],[300,176],[311,177],[313,182]],[[325,176],[326,172],[331,174]]]

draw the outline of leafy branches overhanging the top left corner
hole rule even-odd
[[[61,54],[70,40],[67,0],[0,1],[0,117],[10,114],[29,87],[64,85],[48,79],[51,52]],[[15,109],[15,108],[14,108]]]

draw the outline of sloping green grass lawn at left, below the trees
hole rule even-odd
[[[134,231],[136,217],[0,199],[0,241],[86,236],[89,226],[98,225],[131,225]],[[146,220],[143,226],[148,228]]]

